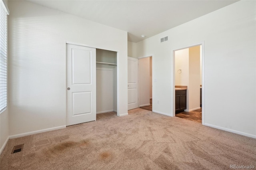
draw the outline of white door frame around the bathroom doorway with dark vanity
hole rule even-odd
[[[178,51],[180,49],[186,49],[186,48],[190,48],[190,47],[195,47],[195,46],[198,46],[198,45],[202,45],[202,48],[201,48],[201,53],[202,53],[202,125],[204,125],[205,123],[205,102],[204,102],[204,89],[205,89],[205,83],[204,83],[204,75],[205,75],[205,69],[204,69],[204,42],[198,42],[198,43],[194,43],[194,44],[191,44],[191,45],[186,45],[184,47],[178,47],[178,48],[174,48],[171,50],[171,55],[172,55],[172,77],[173,77],[173,80],[172,80],[172,86],[173,86],[173,89],[172,89],[172,99],[173,99],[173,103],[172,103],[172,107],[173,107],[173,117],[175,117],[175,51]]]

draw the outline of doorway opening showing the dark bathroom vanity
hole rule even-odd
[[[203,43],[200,43],[173,50],[174,116],[202,124],[204,124],[203,47]]]

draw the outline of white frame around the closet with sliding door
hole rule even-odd
[[[117,85],[116,85],[116,89],[117,89],[117,91],[116,91],[116,95],[117,95],[117,103],[116,103],[116,107],[117,107],[117,110],[116,110],[116,115],[117,116],[124,116],[124,115],[120,115],[120,113],[119,113],[119,110],[120,110],[120,104],[119,104],[119,101],[120,101],[120,95],[119,95],[119,91],[118,91],[118,89],[119,89],[119,81],[120,81],[120,79],[119,79],[119,51],[118,50],[116,50],[116,49],[106,49],[106,48],[102,48],[102,47],[96,47],[96,46],[92,46],[92,45],[86,45],[86,44],[81,44],[81,43],[75,43],[75,42],[69,42],[69,41],[66,41],[66,43],[65,43],[65,48],[67,47],[67,44],[72,44],[72,45],[80,45],[80,46],[84,46],[84,47],[90,47],[90,48],[95,48],[95,49],[104,49],[104,50],[109,50],[109,51],[115,51],[116,52],[116,63],[117,63],[117,65],[116,65],[116,83],[117,83]],[[66,51],[67,51],[67,48],[66,48]],[[66,57],[66,89],[67,89],[67,53],[65,52],[65,57]],[[68,95],[67,95],[67,90],[66,90],[66,121],[67,121],[67,114],[68,114],[68,99],[67,99],[67,97],[68,97]],[[97,93],[97,92],[96,92]],[[127,115],[128,115],[128,113],[127,113]]]

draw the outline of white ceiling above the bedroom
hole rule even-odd
[[[127,31],[128,41],[139,42],[238,0],[29,1]]]

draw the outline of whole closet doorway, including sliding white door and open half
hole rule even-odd
[[[66,62],[67,126],[117,112],[116,51],[66,44]]]

